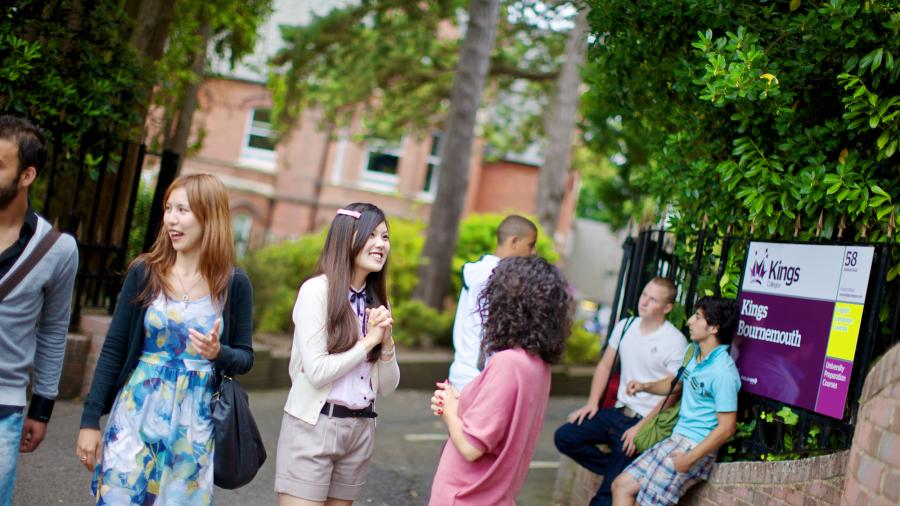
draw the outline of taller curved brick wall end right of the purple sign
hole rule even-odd
[[[900,345],[866,378],[841,504],[900,504]]]

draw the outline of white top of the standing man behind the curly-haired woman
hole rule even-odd
[[[475,379],[478,355],[481,350],[481,315],[478,313],[478,296],[487,284],[500,257],[485,255],[477,262],[463,265],[463,287],[459,292],[456,317],[453,321],[453,363],[450,364],[450,383],[457,390]]]

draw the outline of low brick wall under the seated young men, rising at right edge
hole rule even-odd
[[[599,485],[599,476],[562,457],[554,505],[585,506]],[[900,504],[900,345],[866,378],[850,450],[786,462],[719,463],[681,504]]]

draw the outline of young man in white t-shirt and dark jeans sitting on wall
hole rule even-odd
[[[648,392],[629,395],[628,382],[654,381],[652,378],[666,376],[674,378],[681,365],[688,342],[666,320],[674,300],[675,285],[669,279],[653,278],[644,286],[638,303],[639,317],[631,321],[620,320],[609,334],[609,346],[594,370],[587,404],[570,413],[569,422],[556,430],[554,442],[560,452],[603,475],[603,483],[591,500],[591,506],[612,504],[610,486],[613,480],[637,457],[634,436],[640,423],[663,399]],[[621,380],[616,406],[600,409],[617,355]],[[608,445],[611,451],[601,451],[598,444]]]

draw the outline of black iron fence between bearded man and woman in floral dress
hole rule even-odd
[[[78,243],[80,265],[72,300],[72,322],[77,325],[84,308],[112,312],[115,306],[129,260],[135,204],[148,153],[144,144],[103,136],[84,136],[73,152],[63,145],[64,135],[50,136],[55,141],[48,146],[47,166],[32,187],[31,200],[38,213]],[[146,237],[139,238],[138,247],[152,243],[148,237],[156,237],[158,226],[151,225],[158,225],[162,218],[162,194],[177,166],[177,154],[160,156],[156,179],[165,185],[156,185]]]

